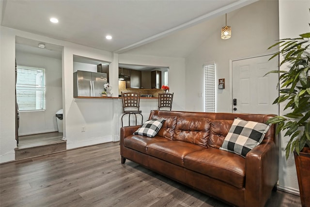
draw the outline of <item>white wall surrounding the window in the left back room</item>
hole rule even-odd
[[[62,109],[62,60],[16,51],[20,66],[45,68],[46,110],[20,111],[19,135],[57,131],[56,111]]]

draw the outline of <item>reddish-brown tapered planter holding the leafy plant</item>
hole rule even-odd
[[[310,148],[304,147],[299,153],[294,151],[300,200],[302,207],[310,207]]]

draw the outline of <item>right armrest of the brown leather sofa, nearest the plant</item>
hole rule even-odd
[[[263,142],[246,156],[245,202],[263,207],[278,181],[279,154],[271,140]]]

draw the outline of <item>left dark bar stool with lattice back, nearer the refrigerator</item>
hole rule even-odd
[[[128,121],[130,126],[130,115],[134,114],[136,117],[136,125],[137,125],[137,114],[141,115],[143,124],[143,115],[142,111],[140,111],[140,92],[121,92],[122,93],[122,101],[123,101],[123,115],[122,115],[122,127],[123,127],[123,117],[126,114],[129,114]]]

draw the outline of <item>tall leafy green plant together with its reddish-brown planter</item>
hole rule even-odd
[[[283,131],[289,136],[286,145],[286,159],[294,152],[301,204],[310,206],[310,32],[298,38],[282,39],[270,48],[278,47],[279,52],[270,58],[282,55],[281,65],[288,70],[274,70],[279,73],[279,97],[273,104],[284,102],[283,116],[276,116],[268,123],[278,124],[276,133]],[[268,48],[268,49],[270,49]],[[266,74],[266,75],[267,75]]]

